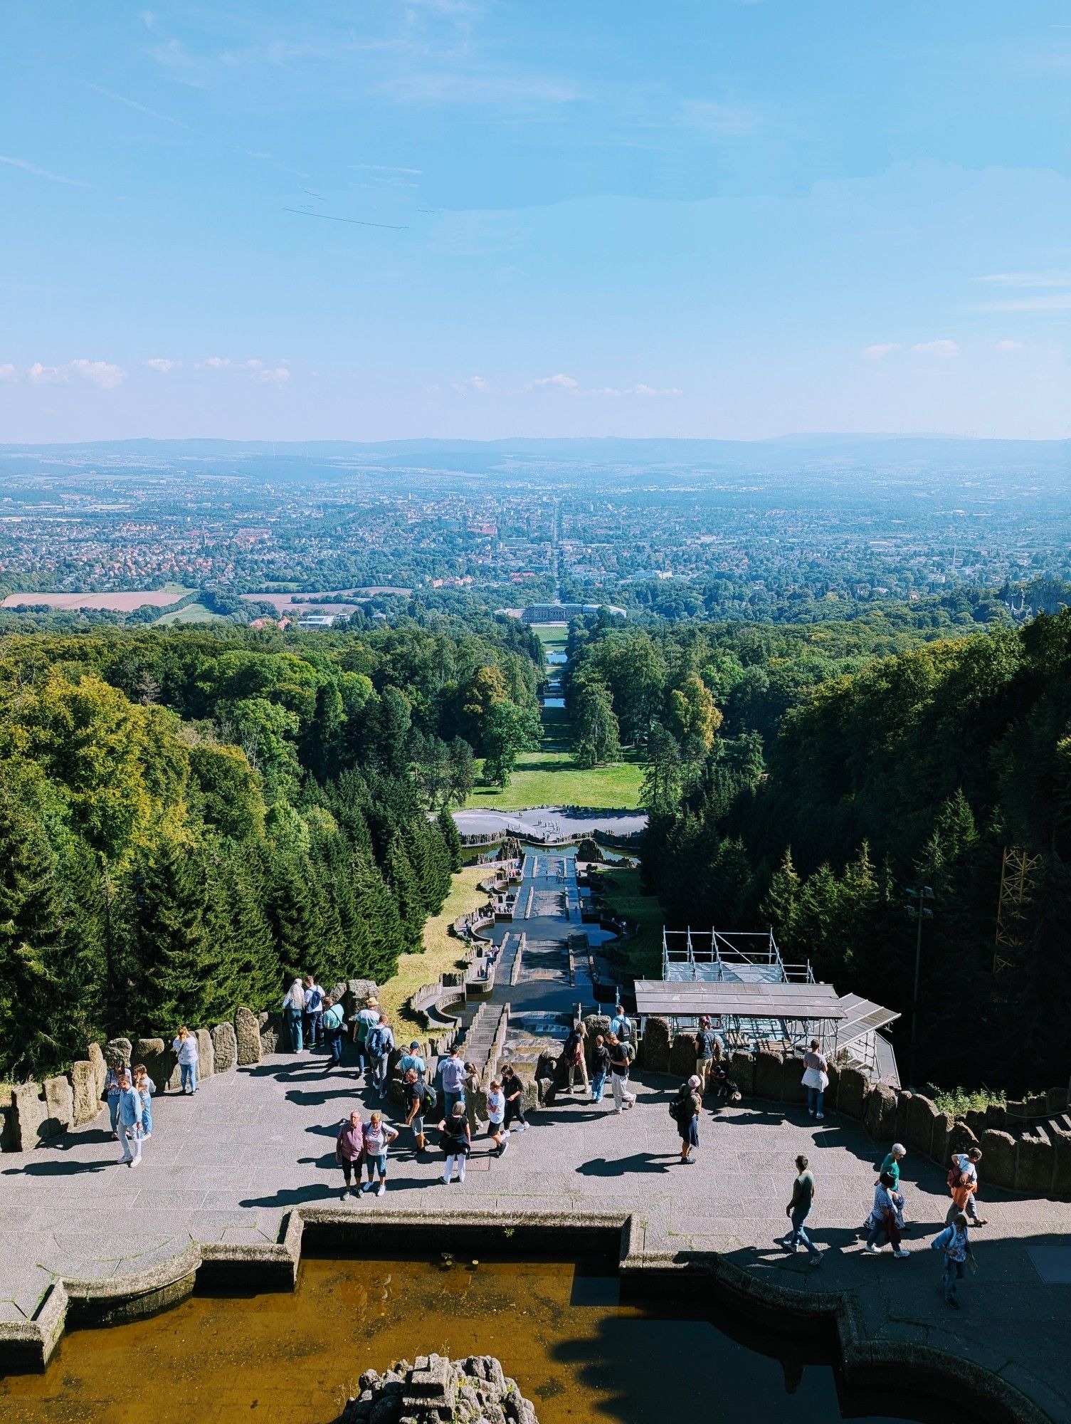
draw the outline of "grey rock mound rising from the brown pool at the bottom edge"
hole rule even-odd
[[[342,1424],[538,1424],[526,1400],[490,1354],[447,1360],[420,1354],[397,1360],[385,1373],[366,1370],[360,1394],[350,1400]]]

